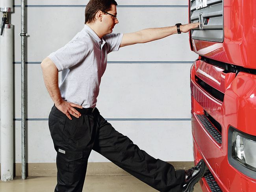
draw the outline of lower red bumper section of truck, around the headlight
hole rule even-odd
[[[202,63],[196,61],[196,63]],[[203,65],[202,63],[201,65]],[[200,69],[200,64],[196,65]],[[212,79],[218,79],[216,67],[213,74],[209,75]],[[222,70],[219,69],[219,76]],[[256,75],[239,73],[230,84],[226,84],[227,89],[224,94],[224,101],[221,102],[206,92],[195,80],[197,73],[195,65],[191,67],[191,104],[192,104],[192,134],[193,150],[195,162],[204,159],[215,180],[222,191],[240,192],[256,191],[256,179],[252,179],[237,171],[228,162],[228,127],[233,126],[248,133],[256,135],[255,114],[256,114]],[[210,78],[209,78],[210,79]],[[213,81],[215,82],[215,81]],[[219,81],[225,82],[225,81]],[[215,85],[217,87],[217,85]],[[223,88],[219,86],[219,90]],[[204,110],[210,114],[222,127],[222,143],[218,144],[214,138],[206,131],[196,114],[204,114]],[[205,180],[202,180],[204,185]],[[248,190],[241,189],[241,182]],[[204,191],[210,192],[208,185]],[[250,189],[250,190],[249,190]]]

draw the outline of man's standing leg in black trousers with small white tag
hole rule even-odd
[[[54,106],[49,115],[49,128],[57,151],[55,192],[82,192],[96,135],[93,114],[82,114],[80,118],[72,116],[69,120]]]

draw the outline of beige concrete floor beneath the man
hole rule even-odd
[[[0,181],[0,192],[53,192],[56,177],[28,177],[21,180]],[[130,175],[86,176],[83,192],[157,192],[150,186]],[[194,192],[202,192],[199,183]]]

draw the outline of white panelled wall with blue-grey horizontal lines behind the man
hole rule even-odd
[[[43,83],[39,62],[82,30],[85,7],[80,5],[87,2],[27,1],[28,162],[55,162],[56,152],[45,120],[53,102]],[[117,0],[117,3],[122,6],[117,8],[119,24],[114,32],[187,23],[187,0]],[[15,13],[11,14],[16,62],[15,162],[21,162],[20,1],[15,0],[15,5]],[[100,85],[97,107],[101,114],[140,148],[164,161],[193,161],[189,69],[197,55],[191,52],[188,40],[188,34],[183,33],[120,48],[119,52],[109,54]],[[95,152],[89,158],[89,162],[106,161]]]

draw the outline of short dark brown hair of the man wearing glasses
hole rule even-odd
[[[117,2],[115,0],[90,0],[85,8],[85,24],[94,22],[98,11],[108,12],[111,5],[117,6]]]

